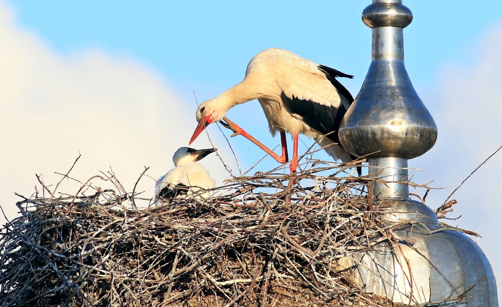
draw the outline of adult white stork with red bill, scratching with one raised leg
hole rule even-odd
[[[336,77],[353,76],[303,59],[283,49],[270,48],[262,51],[249,61],[242,82],[220,96],[200,104],[195,114],[199,124],[189,144],[207,125],[225,119],[227,123],[222,122],[225,127],[233,130],[235,135],[240,134],[248,138],[279,163],[288,161],[285,132],[291,133],[292,173],[298,167],[300,133],[314,138],[334,159],[350,162],[355,157],[338,145],[338,128],[354,99]],[[253,99],[258,99],[262,105],[272,135],[278,131],[281,135],[281,156],[224,118],[231,107]]]

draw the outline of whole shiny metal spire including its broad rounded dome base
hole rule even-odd
[[[479,246],[409,199],[408,159],[426,153],[437,139],[404,65],[403,29],[412,19],[401,0],[373,0],[362,13],[371,28],[371,64],[338,135],[348,152],[368,157],[368,173],[378,179],[370,185],[373,201],[392,208],[386,223],[397,243],[375,237],[378,243],[354,259],[353,279],[394,302],[440,305],[467,292],[466,306],[498,306],[495,277]]]

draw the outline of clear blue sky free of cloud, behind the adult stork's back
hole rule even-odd
[[[193,92],[199,103],[217,96],[243,78],[250,58],[269,47],[291,50],[354,75],[343,81],[354,97],[370,60],[370,30],[360,19],[369,1],[8,3],[19,25],[59,55],[100,50],[131,58],[164,78],[189,108],[195,108]],[[414,14],[405,29],[405,57],[417,90],[428,90],[454,59],[468,64],[477,52],[473,44],[502,20],[500,1],[475,5],[459,1],[451,6],[446,1],[420,0],[405,5]],[[243,128],[268,138],[265,117],[256,108],[255,101],[228,115],[237,122],[253,123]],[[235,144],[243,152],[253,148],[247,141]],[[267,144],[273,147],[276,141]],[[249,160],[255,161],[259,154]]]

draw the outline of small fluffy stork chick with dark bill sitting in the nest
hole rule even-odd
[[[163,198],[177,196],[209,197],[210,192],[200,192],[201,189],[214,188],[214,180],[204,166],[196,163],[208,154],[216,151],[214,148],[195,150],[190,147],[179,148],[173,156],[174,168],[160,177],[155,184],[156,206],[167,204]]]

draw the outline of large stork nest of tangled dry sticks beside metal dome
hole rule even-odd
[[[314,163],[316,164],[316,163]],[[317,167],[257,173],[214,197],[145,201],[112,175],[84,196],[17,203],[2,229],[3,306],[391,306],[350,278],[384,226],[366,177]],[[321,175],[327,173],[327,175]],[[93,177],[94,178],[94,177]],[[141,177],[140,177],[141,178]],[[42,183],[42,182],[41,182]],[[43,183],[42,183],[43,184]],[[57,188],[57,187],[56,187]],[[81,189],[82,190],[82,189]],[[150,203],[153,205],[153,203]]]

